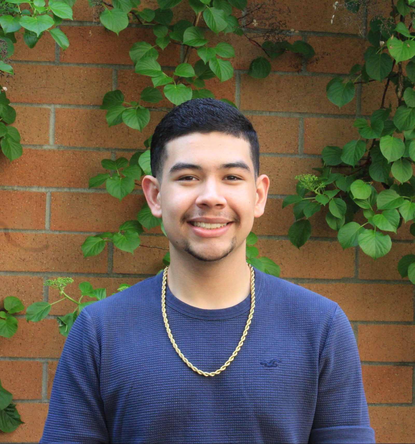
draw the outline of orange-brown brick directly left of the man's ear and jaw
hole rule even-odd
[[[118,231],[122,223],[137,218],[145,202],[143,194],[129,194],[120,202],[108,193],[52,193],[50,229]],[[159,227],[151,229],[161,232]]]

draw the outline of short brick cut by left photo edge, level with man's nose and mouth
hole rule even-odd
[[[46,194],[0,190],[1,228],[45,229]]]

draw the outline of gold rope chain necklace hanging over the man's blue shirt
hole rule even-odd
[[[247,262],[248,264],[248,262]],[[244,333],[242,334],[242,337],[240,338],[239,344],[237,345],[237,348],[232,353],[232,355],[229,357],[228,361],[225,362],[224,365],[220,369],[217,369],[215,372],[204,372],[202,370],[199,370],[197,367],[195,367],[191,362],[189,362],[184,356],[183,353],[178,348],[175,340],[173,339],[173,335],[171,334],[171,330],[169,327],[169,323],[167,322],[167,314],[166,314],[166,279],[167,279],[167,270],[168,266],[164,269],[163,273],[163,284],[161,287],[161,311],[163,313],[163,319],[164,319],[164,325],[166,325],[167,334],[169,335],[170,341],[173,344],[173,347],[175,348],[178,355],[182,358],[182,360],[186,363],[190,369],[194,370],[196,373],[199,373],[199,375],[203,376],[215,376],[221,373],[223,370],[226,369],[226,367],[233,361],[233,358],[238,354],[240,348],[242,347],[242,344],[244,343],[246,334],[248,333],[249,325],[251,324],[252,315],[254,314],[254,308],[255,308],[255,275],[254,275],[254,269],[250,264],[248,264],[249,269],[251,270],[251,309],[249,310],[249,316],[248,321],[246,322]]]

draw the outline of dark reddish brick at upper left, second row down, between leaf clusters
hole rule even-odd
[[[117,36],[102,26],[68,26],[64,32],[69,48],[61,51],[60,61],[70,63],[110,63],[132,65],[129,51],[136,42],[145,40],[155,45],[155,36],[147,28],[126,28]],[[157,61],[162,66],[175,67],[180,63],[180,46],[169,44],[159,51]]]

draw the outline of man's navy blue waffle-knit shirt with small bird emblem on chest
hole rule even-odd
[[[330,299],[255,271],[255,311],[223,372],[178,356],[162,274],[85,307],[66,339],[40,443],[375,443],[352,327]],[[173,337],[219,369],[251,306],[188,305],[166,288]]]

